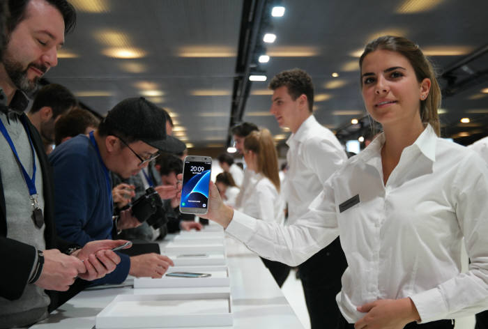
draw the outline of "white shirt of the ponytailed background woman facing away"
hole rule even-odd
[[[254,174],[254,184],[247,188],[243,198],[243,206],[240,210],[246,215],[265,222],[283,224],[284,213],[280,192],[267,177]]]

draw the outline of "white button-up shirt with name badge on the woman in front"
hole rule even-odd
[[[349,267],[337,303],[356,307],[410,297],[423,322],[488,308],[488,168],[473,151],[436,137],[430,125],[404,148],[386,186],[384,135],[350,158],[295,224],[280,227],[234,212],[227,232],[261,257],[302,263],[338,234]],[[359,203],[340,211],[358,195]],[[471,259],[461,271],[461,243]]]

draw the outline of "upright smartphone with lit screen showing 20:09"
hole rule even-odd
[[[183,165],[180,212],[205,214],[208,211],[208,184],[212,158],[188,155]]]

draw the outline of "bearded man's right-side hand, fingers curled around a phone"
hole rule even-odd
[[[73,256],[84,261],[86,273],[78,276],[83,280],[92,281],[112,273],[121,262],[118,254],[112,248],[119,247],[126,240],[97,240],[86,243],[82,249],[73,252]],[[130,246],[128,246],[130,247]],[[126,249],[126,248],[124,248]]]

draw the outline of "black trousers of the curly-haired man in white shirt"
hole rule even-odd
[[[346,267],[339,238],[298,266],[312,329],[335,328],[340,314],[335,296]]]

